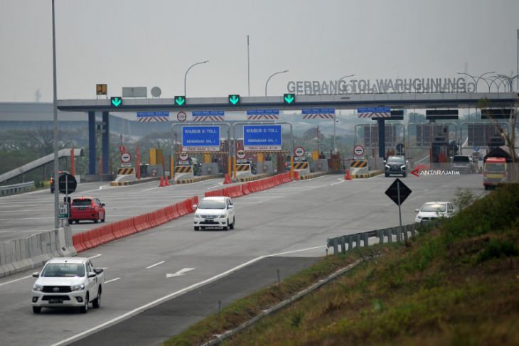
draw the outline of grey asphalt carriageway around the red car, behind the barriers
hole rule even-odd
[[[107,182],[81,183],[71,198],[92,196],[105,203],[106,222],[134,217],[174,204],[207,188],[219,186],[223,179],[159,188],[158,181],[112,187]],[[65,195],[60,194],[60,201]],[[0,241],[46,232],[54,228],[54,195],[49,189],[0,198]],[[91,221],[73,224],[73,233],[98,227]]]

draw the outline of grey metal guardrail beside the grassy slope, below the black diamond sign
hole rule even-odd
[[[416,234],[416,224],[402,225],[402,232],[404,239],[407,240],[409,232],[411,237]],[[384,242],[392,243],[393,236],[396,236],[396,241],[402,241],[402,234],[400,234],[400,227],[390,227],[384,229],[375,229],[374,231],[348,234],[341,237],[328,238],[326,239],[326,247],[333,247],[333,253],[338,254],[338,247],[341,246],[341,253],[345,254],[346,251],[351,251],[355,248],[360,247],[360,243],[363,242],[363,247],[368,247],[370,244],[370,238],[378,239],[378,244],[384,244]],[[355,245],[354,245],[355,243]],[[348,249],[346,249],[346,245]]]

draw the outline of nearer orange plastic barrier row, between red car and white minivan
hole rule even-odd
[[[71,244],[73,244],[75,251],[77,252],[83,252],[94,247],[99,247],[100,245],[112,242],[115,239],[127,237],[146,229],[159,227],[160,225],[164,225],[166,222],[178,219],[178,217],[188,215],[189,213],[194,212],[193,205],[198,205],[198,196],[193,196],[192,198],[188,198],[174,205],[168,205],[167,207],[163,207],[153,212],[148,212],[144,215],[129,217],[128,219],[96,227],[86,232],[73,234],[71,237]]]

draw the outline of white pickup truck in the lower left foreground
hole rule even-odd
[[[33,313],[41,308],[60,308],[77,306],[87,313],[88,304],[94,308],[101,306],[101,293],[105,283],[103,269],[95,269],[90,259],[55,258],[50,259],[33,286]]]

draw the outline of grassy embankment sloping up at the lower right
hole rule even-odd
[[[360,256],[361,264],[225,345],[519,345],[519,185],[424,230],[410,244],[330,256],[171,338],[197,345]],[[305,286],[306,285],[306,286]]]

